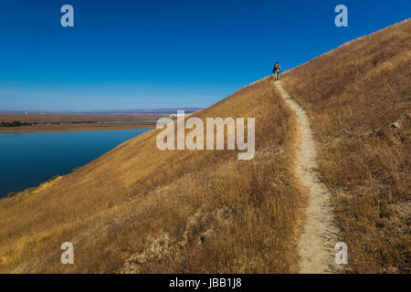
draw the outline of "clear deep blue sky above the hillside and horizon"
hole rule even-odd
[[[334,26],[339,4],[349,27]],[[410,14],[409,0],[1,0],[0,110],[206,107],[276,60],[296,67]]]

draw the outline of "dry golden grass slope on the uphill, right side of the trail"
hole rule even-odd
[[[320,142],[351,272],[411,271],[410,77],[409,19],[284,75]]]

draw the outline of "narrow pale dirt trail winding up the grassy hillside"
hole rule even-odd
[[[335,265],[334,260],[337,253],[334,246],[339,242],[340,230],[335,224],[331,193],[319,179],[310,121],[306,112],[282,88],[280,81],[275,84],[281,97],[298,117],[300,148],[296,172],[300,183],[309,190],[306,224],[299,243],[300,273],[341,273],[342,266]]]

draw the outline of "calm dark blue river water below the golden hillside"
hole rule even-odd
[[[0,134],[0,198],[68,174],[147,130]]]

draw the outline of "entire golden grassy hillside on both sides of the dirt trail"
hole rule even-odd
[[[410,76],[407,20],[281,81],[310,118],[351,272],[410,271]],[[195,116],[256,118],[254,159],[159,151],[159,130],[144,133],[0,200],[0,272],[298,272],[299,127],[272,78]],[[74,244],[75,265],[60,264],[63,242]]]

